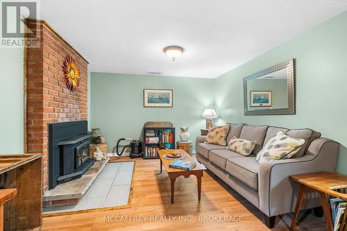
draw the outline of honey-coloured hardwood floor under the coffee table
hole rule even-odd
[[[117,161],[115,157],[111,160]],[[122,158],[122,161],[126,158]],[[87,214],[47,217],[43,230],[269,230],[262,213],[217,177],[205,172],[202,180],[201,202],[198,203],[196,178],[177,178],[175,203],[171,205],[170,182],[166,171],[160,172],[160,160],[135,159],[133,198],[130,208]],[[119,221],[142,219],[142,221]],[[198,221],[224,216],[242,221]],[[109,217],[111,221],[105,221]],[[179,220],[180,218],[180,220]],[[117,219],[117,221],[115,221]],[[143,221],[146,219],[146,221]],[[166,219],[166,221],[160,221]],[[175,221],[174,221],[175,219]],[[189,221],[182,221],[187,219]],[[155,221],[159,220],[159,221]],[[301,216],[299,216],[299,222]],[[273,230],[288,230],[291,215],[277,218]],[[312,226],[313,224],[313,226]],[[314,228],[314,229],[311,229]],[[296,230],[325,230],[324,220],[309,215]]]

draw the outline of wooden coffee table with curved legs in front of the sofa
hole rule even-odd
[[[169,167],[171,162],[174,160],[167,160],[163,156],[167,153],[180,153],[185,155],[185,159],[187,161],[196,162],[196,166],[192,170],[186,171],[181,169],[174,169]],[[201,200],[201,178],[203,177],[203,171],[206,170],[203,164],[200,164],[196,160],[193,159],[191,155],[186,153],[182,149],[162,149],[158,151],[158,155],[160,156],[160,173],[162,173],[162,166],[164,165],[167,170],[167,175],[169,175],[171,182],[171,204],[174,204],[174,191],[175,191],[175,181],[179,176],[184,176],[185,178],[189,178],[189,176],[194,175],[198,180],[198,200]]]

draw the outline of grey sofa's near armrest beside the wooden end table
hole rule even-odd
[[[260,210],[267,216],[293,212],[299,185],[290,180],[289,176],[319,171],[335,171],[338,153],[339,143],[331,139],[321,138],[310,144],[303,157],[262,162],[258,173]],[[304,203],[305,207],[320,205],[317,195],[312,194],[310,199]]]

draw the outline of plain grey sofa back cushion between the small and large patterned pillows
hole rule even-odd
[[[253,153],[257,154],[262,150],[262,144],[264,143],[267,128],[268,126],[244,125],[239,137],[240,139],[255,140]]]

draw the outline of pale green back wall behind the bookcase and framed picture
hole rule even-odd
[[[206,78],[91,73],[91,126],[101,128],[108,152],[119,138],[142,139],[146,121],[170,121],[189,127],[192,141],[205,127],[203,109],[213,107],[213,81]],[[144,108],[143,89],[173,89],[173,108]],[[124,142],[124,144],[126,144]]]

